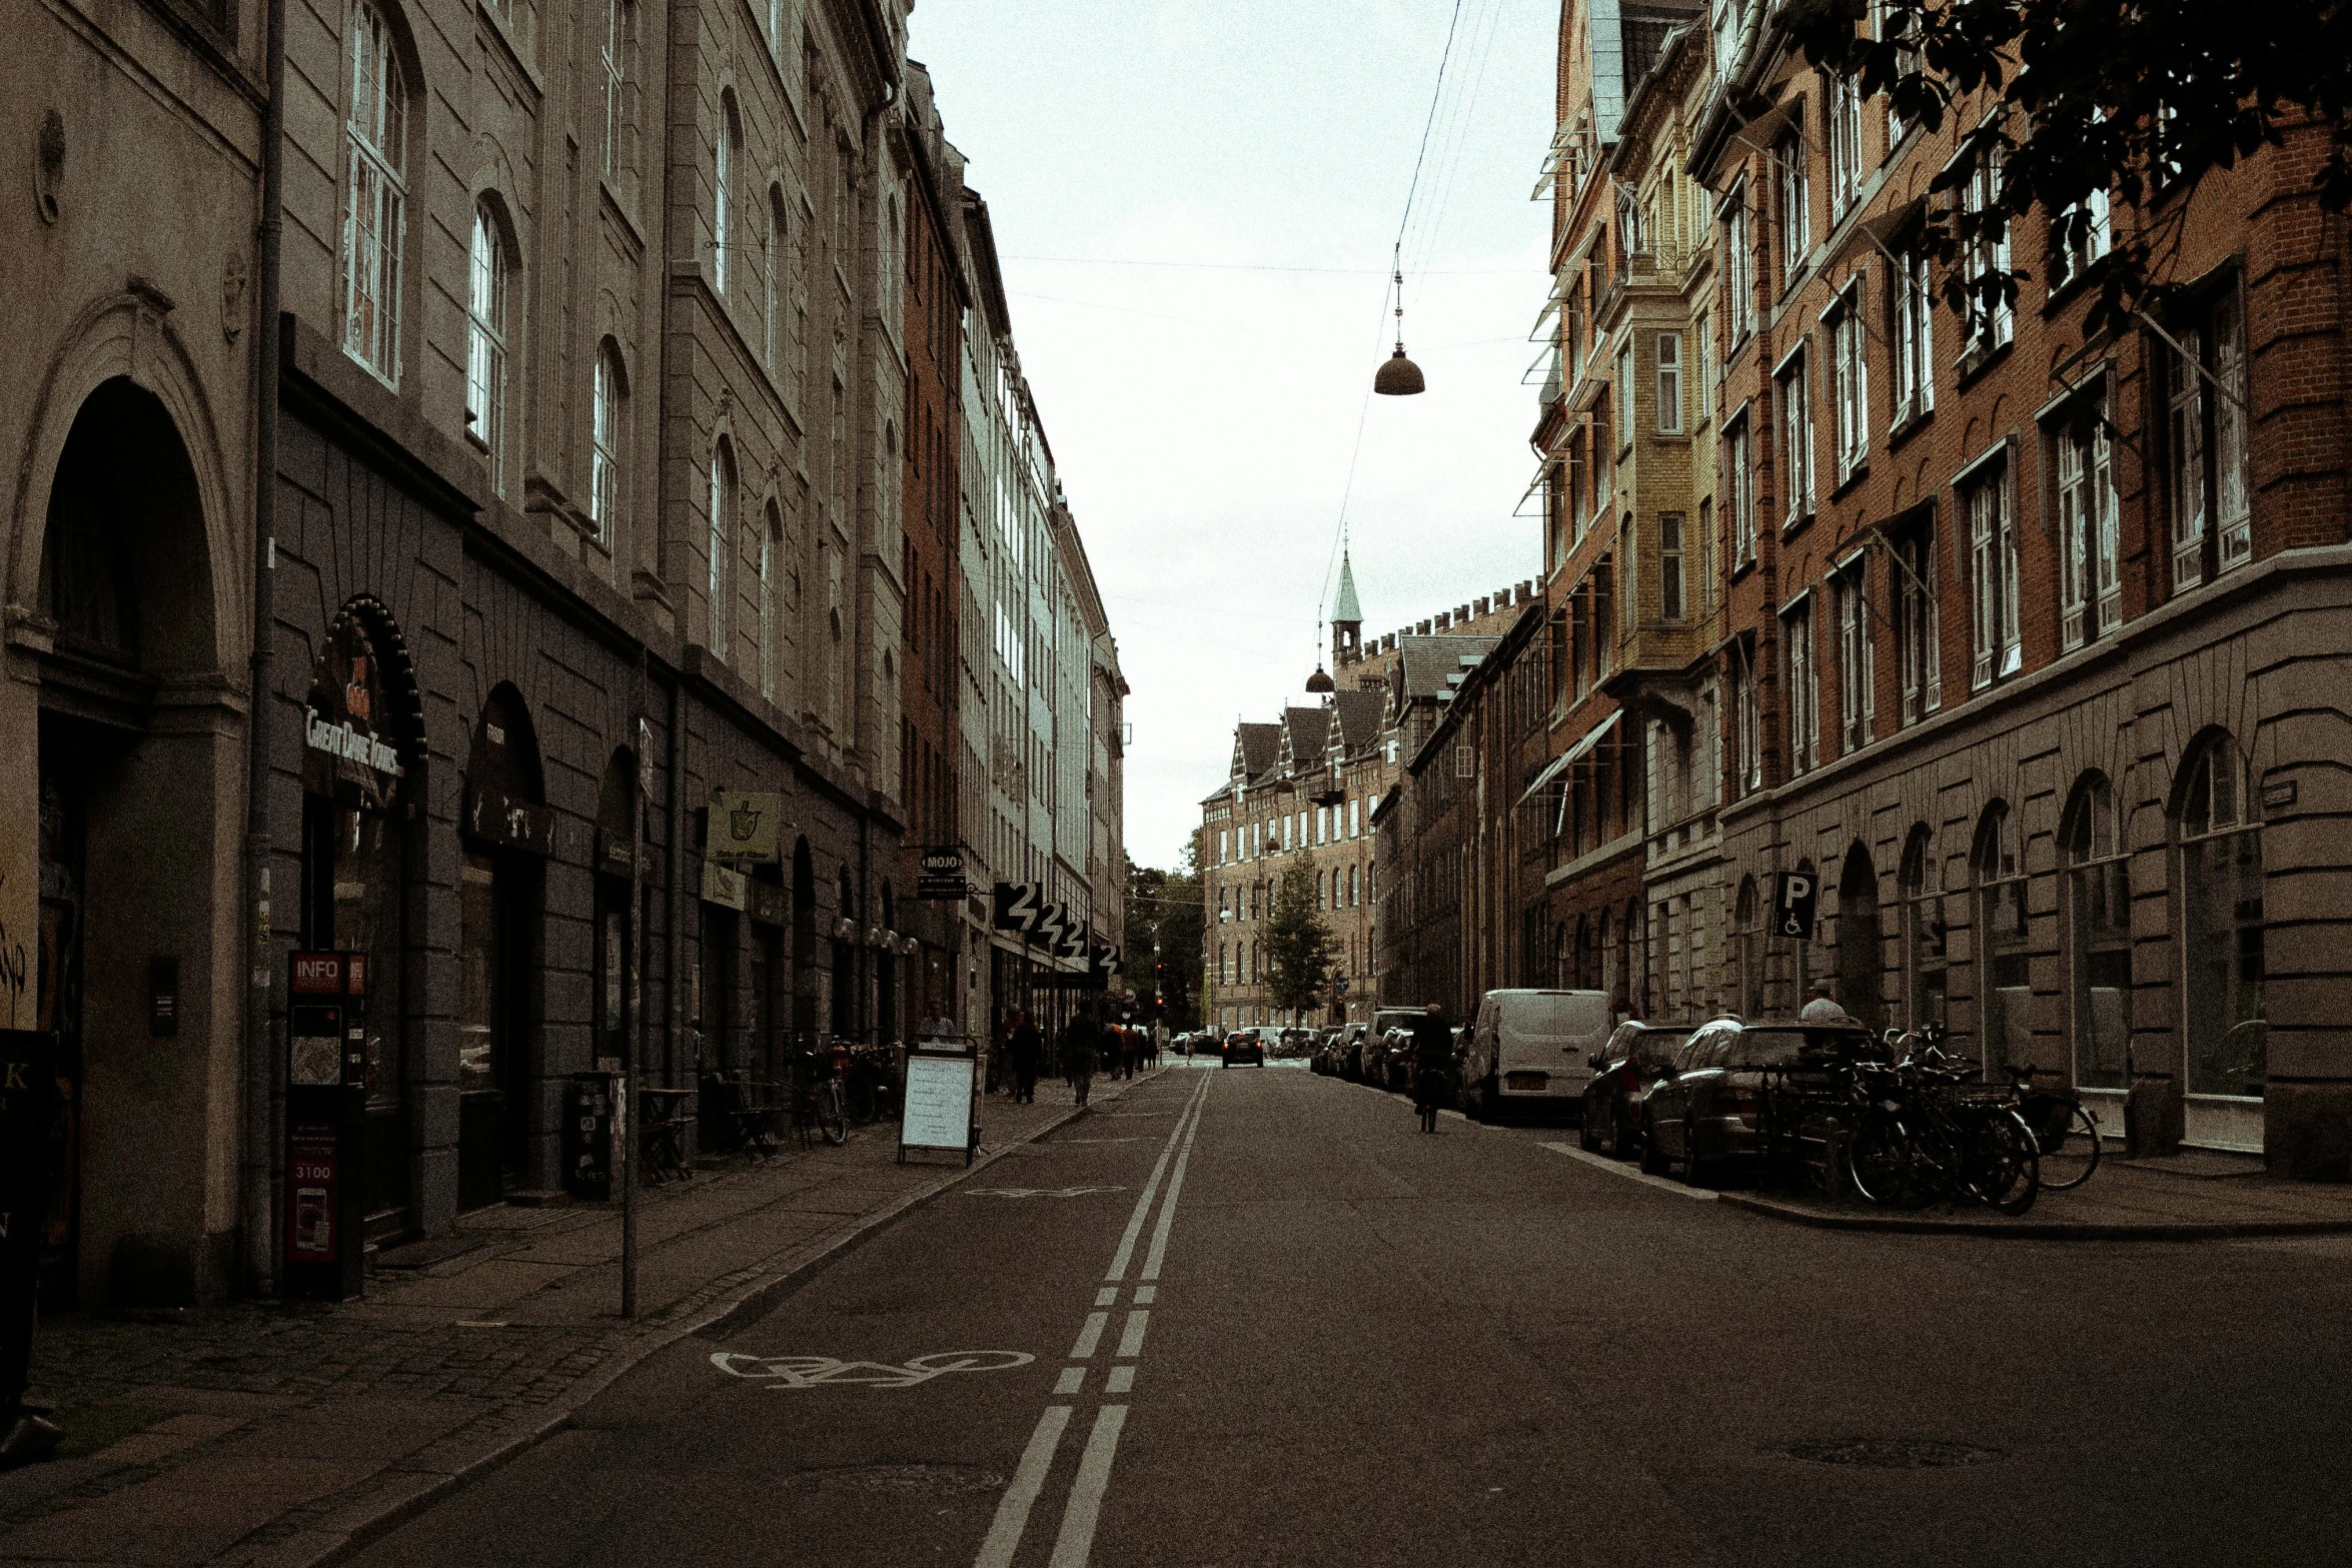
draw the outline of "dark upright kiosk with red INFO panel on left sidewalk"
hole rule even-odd
[[[296,952],[287,971],[285,1293],[360,1293],[367,954]]]

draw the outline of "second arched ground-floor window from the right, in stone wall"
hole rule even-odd
[[[2074,783],[2058,827],[2065,858],[2067,1034],[2077,1088],[2131,1088],[2131,863],[2105,773]]]

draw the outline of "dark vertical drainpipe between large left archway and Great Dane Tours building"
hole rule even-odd
[[[278,1291],[278,1053],[270,1048],[270,689],[278,623],[278,263],[285,235],[287,5],[268,0],[261,103],[261,244],[254,331],[254,628],[245,766],[245,1288]]]

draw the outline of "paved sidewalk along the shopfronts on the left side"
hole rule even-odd
[[[1145,1081],[1143,1077],[1136,1084]],[[1098,1079],[1094,1105],[1129,1084]],[[990,1095],[981,1157],[1082,1114],[1058,1081]],[[56,1460],[0,1472],[0,1563],[329,1561],[562,1427],[656,1349],[760,1312],[964,1175],[896,1164],[894,1124],[649,1187],[637,1307],[619,1319],[621,1208],[485,1208],[393,1248],[341,1305],[66,1314],[33,1342]]]

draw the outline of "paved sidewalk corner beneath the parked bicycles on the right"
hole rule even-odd
[[[1983,1206],[1891,1213],[1818,1194],[1722,1192],[1719,1201],[1797,1225],[1882,1232],[1959,1232],[2044,1241],[2204,1241],[2218,1237],[2319,1237],[2352,1232],[2352,1185],[2291,1182],[2260,1157],[2185,1152],[2166,1159],[2107,1154],[2089,1182],[2044,1190],[2006,1218]]]

